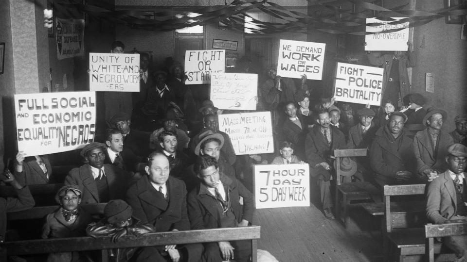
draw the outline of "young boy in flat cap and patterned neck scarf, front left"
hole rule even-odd
[[[63,238],[85,236],[86,226],[91,222],[91,216],[80,208],[81,190],[77,185],[65,185],[55,195],[58,208],[46,217],[42,227],[42,238]],[[79,252],[51,253],[47,262],[81,261],[83,255]]]

